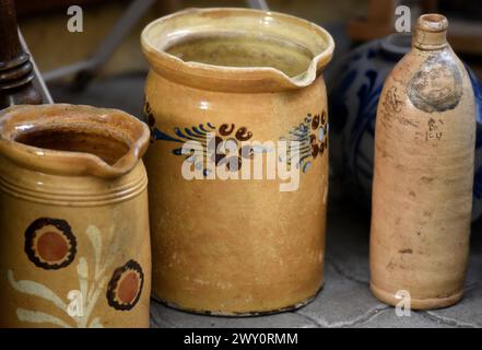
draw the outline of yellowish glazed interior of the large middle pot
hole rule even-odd
[[[271,67],[293,78],[304,73],[314,56],[309,49],[267,35],[196,34],[171,44],[165,51],[185,62],[224,67]]]

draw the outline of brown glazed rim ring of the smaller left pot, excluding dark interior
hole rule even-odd
[[[108,164],[93,153],[44,149],[15,140],[22,129],[54,130],[60,117],[67,118],[61,121],[62,126],[69,122],[75,125],[77,121],[83,127],[96,125],[95,129],[104,130],[106,137],[109,133],[122,135],[129,150],[114,164]],[[50,104],[16,105],[0,112],[0,155],[22,167],[47,174],[118,177],[138,164],[149,147],[149,140],[148,126],[120,109]]]

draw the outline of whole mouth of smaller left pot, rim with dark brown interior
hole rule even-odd
[[[0,154],[48,174],[124,175],[142,158],[149,138],[145,124],[118,109],[54,104],[0,112]]]

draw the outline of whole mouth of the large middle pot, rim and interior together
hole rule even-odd
[[[322,27],[271,11],[188,9],[150,23],[142,49],[154,71],[205,90],[299,89],[319,77],[334,42]]]

